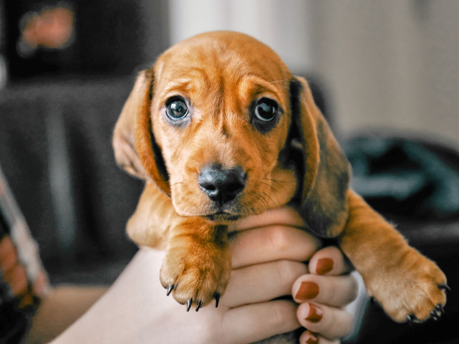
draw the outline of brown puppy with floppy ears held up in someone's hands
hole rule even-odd
[[[445,275],[348,188],[308,83],[257,40],[204,33],[164,52],[140,73],[113,145],[146,180],[129,236],[167,250],[161,283],[188,310],[224,293],[227,224],[291,202],[313,232],[339,240],[395,321],[441,315]]]

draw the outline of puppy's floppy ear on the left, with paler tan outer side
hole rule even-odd
[[[115,125],[113,149],[118,165],[137,178],[151,178],[169,195],[169,176],[151,130],[153,82],[152,70],[139,73]]]

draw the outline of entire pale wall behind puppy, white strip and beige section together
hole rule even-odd
[[[342,135],[407,131],[459,149],[459,1],[169,0],[171,41],[230,29],[329,91]]]

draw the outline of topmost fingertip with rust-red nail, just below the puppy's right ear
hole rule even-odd
[[[317,251],[309,261],[309,271],[317,275],[341,275],[353,270],[340,249],[328,246]]]

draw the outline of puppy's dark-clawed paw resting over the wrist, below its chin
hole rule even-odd
[[[169,249],[162,263],[160,279],[167,294],[174,296],[189,311],[196,311],[224,293],[231,273],[229,248],[174,247]]]

